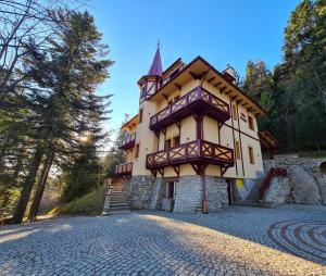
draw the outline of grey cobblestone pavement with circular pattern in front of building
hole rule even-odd
[[[55,218],[0,228],[0,275],[326,275],[325,226],[298,205]]]

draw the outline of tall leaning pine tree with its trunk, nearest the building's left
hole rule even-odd
[[[108,48],[101,43],[101,34],[87,12],[65,11],[55,16],[64,24],[60,39],[49,41],[52,45],[50,53],[34,50],[24,60],[25,70],[29,72],[27,80],[35,84],[28,86],[33,88],[27,95],[37,146],[13,216],[14,223],[23,219],[47,152],[51,151],[48,154],[54,154],[53,160],[62,165],[80,154],[82,136],[90,134],[95,140],[105,136],[101,134],[99,123],[108,118],[111,96],[99,97],[96,89],[108,77],[106,68],[112,65],[111,61],[103,59]]]

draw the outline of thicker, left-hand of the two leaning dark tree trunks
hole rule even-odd
[[[28,175],[23,183],[23,190],[21,192],[21,197],[18,199],[18,202],[16,204],[12,222],[13,224],[20,224],[22,223],[24,218],[24,214],[27,208],[28,199],[30,197],[30,192],[33,189],[33,185],[39,168],[39,165],[41,163],[43,156],[43,149],[40,145],[36,147],[36,151],[34,154],[34,158],[29,164]]]

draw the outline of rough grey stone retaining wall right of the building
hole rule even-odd
[[[300,158],[296,154],[276,155],[274,160],[264,160],[265,172],[271,167],[287,168],[290,186],[288,189],[287,185],[274,185],[266,197],[274,198],[269,193],[280,195],[275,201],[276,204],[326,204],[326,175],[321,171],[321,164],[324,162],[326,158]],[[284,202],[280,202],[280,199]]]

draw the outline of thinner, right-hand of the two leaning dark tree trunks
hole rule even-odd
[[[45,162],[45,166],[42,168],[41,176],[40,176],[39,181],[36,187],[33,203],[32,203],[32,206],[30,206],[29,213],[28,213],[28,221],[36,219],[36,215],[37,215],[37,212],[38,212],[38,209],[39,209],[42,196],[43,196],[46,183],[48,179],[48,175],[49,175],[53,159],[54,159],[54,153],[50,152]]]

